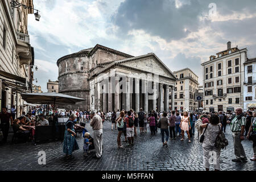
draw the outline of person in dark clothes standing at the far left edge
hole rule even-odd
[[[9,129],[10,129],[10,120],[11,120],[11,125],[13,125],[13,117],[11,116],[11,113],[7,113],[7,107],[2,108],[2,113],[0,113],[0,119],[1,119],[1,129],[3,133],[2,143],[6,143],[8,134],[9,134]]]

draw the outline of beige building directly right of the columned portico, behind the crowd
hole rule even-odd
[[[189,68],[176,71],[174,75],[177,78],[175,82],[174,109],[182,111],[198,109],[198,102],[195,101],[195,93],[199,90],[198,76]],[[171,100],[171,97],[169,99]],[[171,102],[169,105],[171,106]]]

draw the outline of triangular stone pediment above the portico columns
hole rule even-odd
[[[132,59],[115,61],[115,63],[176,79],[170,69],[152,53],[133,57]]]

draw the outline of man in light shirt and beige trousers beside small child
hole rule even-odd
[[[90,126],[93,128],[93,143],[96,150],[96,156],[93,158],[100,159],[102,156],[102,119],[100,115],[95,114],[93,111],[90,113]]]

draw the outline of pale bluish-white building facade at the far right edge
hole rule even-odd
[[[256,57],[247,59],[243,82],[243,111],[256,110]]]

